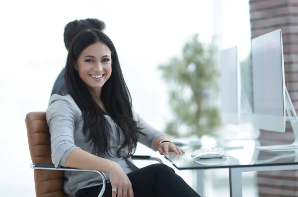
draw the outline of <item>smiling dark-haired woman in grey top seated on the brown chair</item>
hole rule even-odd
[[[138,169],[131,156],[141,142],[160,154],[179,147],[133,110],[118,55],[101,31],[81,31],[65,67],[66,95],[53,95],[47,109],[52,161],[60,166],[105,172],[103,197],[199,197],[163,164]],[[102,180],[94,173],[65,173],[68,196],[97,197]],[[146,179],[144,179],[146,177]]]

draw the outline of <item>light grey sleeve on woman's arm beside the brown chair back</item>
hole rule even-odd
[[[46,111],[50,128],[52,161],[56,168],[66,166],[74,145],[75,111],[70,96],[53,95]]]

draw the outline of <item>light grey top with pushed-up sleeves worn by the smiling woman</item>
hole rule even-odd
[[[56,168],[66,166],[68,156],[76,148],[92,154],[92,146],[85,142],[85,137],[82,133],[83,121],[81,120],[81,115],[81,110],[70,95],[53,95],[50,98],[50,104],[47,109],[47,123],[51,134],[52,161]],[[134,110],[133,117],[135,120],[140,121],[140,126],[143,128],[141,131],[148,135],[146,137],[140,135],[139,141],[153,149],[154,139],[165,134],[152,128]],[[105,118],[110,122],[112,128],[110,150],[113,155],[116,155],[119,145],[125,140],[124,134],[120,129],[120,140],[118,140],[115,123],[108,115],[105,115]],[[117,162],[126,173],[132,171],[122,157],[104,158]],[[131,161],[131,158],[129,158],[129,161]],[[109,181],[108,173],[106,173],[106,176]],[[96,173],[66,171],[65,178],[64,191],[69,197],[73,197],[75,192],[81,188],[102,184],[100,176]]]

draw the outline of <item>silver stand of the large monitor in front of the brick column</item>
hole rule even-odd
[[[285,145],[272,145],[272,146],[259,146],[256,147],[262,151],[289,151],[298,149],[298,116],[296,110],[294,108],[293,102],[290,98],[287,88],[285,87],[286,92],[286,121],[290,121],[295,141],[293,144],[285,144]]]

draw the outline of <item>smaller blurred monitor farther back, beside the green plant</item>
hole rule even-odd
[[[221,117],[224,124],[239,124],[241,81],[237,46],[224,49],[220,53]]]

